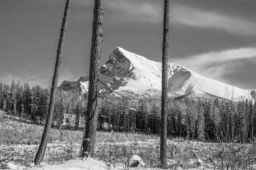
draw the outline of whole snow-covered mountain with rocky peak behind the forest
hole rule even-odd
[[[161,62],[151,61],[143,56],[116,47],[105,65],[100,68],[100,80],[109,88],[120,93],[137,96],[159,97],[161,95]],[[243,100],[256,97],[255,91],[233,87],[214,79],[201,76],[181,65],[168,63],[169,95],[180,98],[218,96],[225,99]],[[77,82],[64,81],[61,88],[66,91],[88,91],[88,77]],[[102,93],[110,91],[100,83]]]

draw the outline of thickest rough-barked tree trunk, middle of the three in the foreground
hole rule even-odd
[[[89,91],[87,102],[87,121],[82,141],[81,157],[85,152],[92,155],[96,138],[98,118],[99,67],[102,46],[104,0],[94,0],[93,35],[90,51]]]

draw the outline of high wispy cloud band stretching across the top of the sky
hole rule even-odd
[[[153,0],[154,1],[154,0]],[[163,3],[152,3],[151,0],[107,0],[104,17],[109,23],[140,21],[143,23],[163,23]],[[93,8],[93,0],[73,0],[72,3]],[[197,28],[214,28],[230,34],[256,36],[256,21],[250,21],[236,15],[219,11],[207,11],[198,8],[170,4],[170,23]],[[89,15],[79,14],[82,20]]]

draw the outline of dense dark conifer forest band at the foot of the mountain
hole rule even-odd
[[[29,87],[12,81],[0,82],[0,109],[26,122],[44,124],[49,105],[50,87]],[[56,90],[52,127],[79,130],[86,122],[87,96]],[[125,98],[105,96],[110,105],[99,98],[97,129],[101,131],[160,133],[160,99],[131,102]],[[214,99],[174,101],[169,98],[168,136],[213,142],[241,142],[255,140],[256,104],[247,99],[239,102]],[[254,138],[254,139],[253,139]]]

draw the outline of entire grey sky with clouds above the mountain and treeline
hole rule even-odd
[[[163,0],[105,0],[101,64],[116,46],[161,61]],[[58,85],[89,75],[93,0],[72,0]],[[48,87],[65,0],[0,0],[3,83]],[[169,62],[256,89],[256,0],[170,0]]]

